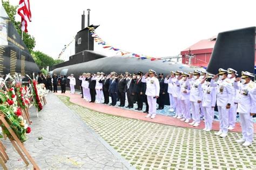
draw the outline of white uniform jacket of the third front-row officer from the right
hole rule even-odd
[[[210,82],[205,82],[203,88],[202,106],[206,108],[215,107],[217,100],[216,87],[211,87]]]

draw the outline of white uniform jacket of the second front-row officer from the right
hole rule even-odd
[[[230,79],[218,80],[215,82],[211,80],[211,87],[217,87],[217,105],[225,107],[227,103],[233,104],[233,90]]]

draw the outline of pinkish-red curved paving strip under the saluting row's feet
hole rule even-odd
[[[154,118],[154,119],[145,118],[144,116],[146,114],[144,114],[142,111],[133,111],[130,109],[124,109],[124,108],[120,108],[120,107],[112,107],[112,106],[106,105],[106,104],[89,103],[89,102],[86,102],[85,100],[83,100],[83,98],[81,98],[81,95],[70,94],[69,92],[70,91],[66,91],[65,94],[61,94],[61,93],[56,93],[56,94],[62,95],[62,96],[68,96],[68,97],[70,97],[70,102],[72,102],[72,103],[76,103],[83,107],[86,107],[86,108],[89,108],[92,110],[96,110],[99,112],[103,112],[105,114],[140,119],[143,121],[149,121],[149,122],[160,123],[160,124],[165,124],[165,125],[172,125],[172,126],[179,126],[179,127],[184,127],[184,128],[204,129],[203,121],[201,121],[201,123],[198,127],[194,127],[194,126],[188,125],[187,123],[181,122],[181,121],[179,121],[179,119],[173,118],[171,116],[157,115],[156,118]],[[212,129],[219,131],[219,121],[213,121]],[[235,129],[232,130],[231,132],[241,132],[240,123],[236,123]],[[256,123],[254,123],[254,133],[256,133]]]

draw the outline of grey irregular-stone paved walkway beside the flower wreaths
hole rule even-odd
[[[32,132],[24,143],[41,169],[133,169],[56,95],[49,94],[46,100],[39,118],[35,108],[30,109]],[[31,169],[31,164],[25,166],[9,140],[1,140],[10,157],[9,169]]]

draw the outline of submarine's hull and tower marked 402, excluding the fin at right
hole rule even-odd
[[[139,71],[146,73],[149,69],[164,75],[170,74],[170,71],[181,70],[183,72],[193,72],[199,67],[188,66],[182,63],[164,60],[151,61],[150,59],[139,59],[133,56],[106,56],[94,51],[94,39],[90,34],[89,28],[97,29],[98,25],[89,24],[90,13],[88,15],[87,27],[85,27],[85,15],[82,15],[82,30],[77,32],[75,37],[75,54],[69,57],[69,61],[53,65],[50,69],[51,74],[70,75],[76,77],[83,73],[103,72],[110,74],[116,73],[137,73]],[[77,80],[78,81],[78,80]],[[76,84],[79,84],[78,82]],[[78,86],[76,86],[79,89]]]

